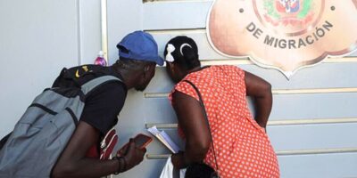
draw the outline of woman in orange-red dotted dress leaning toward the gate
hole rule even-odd
[[[221,178],[279,177],[278,159],[265,128],[272,105],[271,86],[235,66],[201,67],[195,41],[177,36],[166,44],[166,69],[177,83],[170,101],[179,120],[185,152],[172,155],[172,164],[184,168],[202,162]],[[212,132],[191,82],[203,97]],[[253,118],[245,96],[254,99]],[[215,162],[217,159],[217,166]]]

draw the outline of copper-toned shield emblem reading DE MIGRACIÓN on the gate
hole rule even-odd
[[[216,0],[206,29],[218,53],[291,77],[356,50],[356,21],[357,0]]]

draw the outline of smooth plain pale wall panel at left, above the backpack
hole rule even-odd
[[[98,0],[0,0],[0,137],[63,67],[101,49]]]

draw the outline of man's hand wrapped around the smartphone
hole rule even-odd
[[[127,145],[127,148],[124,147],[123,150],[119,150],[118,152],[118,154],[122,155],[126,161],[127,165],[125,171],[141,163],[141,161],[143,161],[144,159],[144,155],[146,152],[146,149],[137,148],[133,139],[130,139]],[[125,153],[122,154],[121,151]]]

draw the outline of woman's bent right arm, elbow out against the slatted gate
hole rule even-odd
[[[256,122],[266,129],[273,101],[270,83],[245,71],[245,88],[254,100]]]

